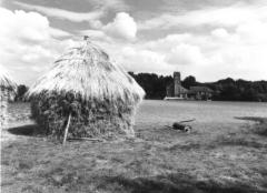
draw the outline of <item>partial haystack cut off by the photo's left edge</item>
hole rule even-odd
[[[0,65],[0,128],[7,121],[8,102],[14,95],[16,90],[17,84],[7,70]]]

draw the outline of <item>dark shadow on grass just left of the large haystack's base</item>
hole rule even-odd
[[[44,133],[40,130],[37,124],[28,124],[23,126],[10,128],[8,132],[16,135],[24,136],[43,136]]]

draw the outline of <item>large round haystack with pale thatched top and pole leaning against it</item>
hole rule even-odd
[[[135,112],[145,92],[99,47],[86,40],[62,54],[30,88],[32,118],[48,135],[134,135]],[[68,121],[70,120],[70,121]]]

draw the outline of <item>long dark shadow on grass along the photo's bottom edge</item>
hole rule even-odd
[[[197,181],[187,174],[170,174],[167,176],[136,177],[107,176],[98,189],[106,189],[110,183],[119,189],[116,192],[131,193],[264,193],[254,186],[229,182],[222,185],[212,181]]]

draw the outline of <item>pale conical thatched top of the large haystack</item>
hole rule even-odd
[[[55,67],[31,89],[30,94],[43,91],[70,91],[86,100],[140,101],[144,90],[109,55],[90,41],[61,55]]]

